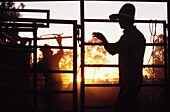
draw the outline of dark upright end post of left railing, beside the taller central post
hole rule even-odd
[[[73,24],[73,111],[77,112],[77,21]]]

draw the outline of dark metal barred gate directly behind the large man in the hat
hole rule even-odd
[[[99,22],[99,23],[112,23],[112,22],[118,22],[118,21],[111,21],[111,20],[104,20],[104,19],[83,19],[82,20],[84,23],[87,23],[87,22]],[[143,68],[163,68],[164,69],[164,83],[161,83],[161,84],[143,84],[142,87],[161,87],[161,88],[165,88],[166,92],[168,92],[168,60],[167,60],[167,37],[166,37],[166,21],[162,21],[162,20],[135,20],[135,23],[159,23],[159,24],[162,24],[163,26],[163,35],[164,35],[164,41],[163,43],[147,43],[146,46],[163,46],[164,47],[164,64],[152,64],[152,65],[143,65]],[[84,29],[85,30],[85,29]],[[83,31],[82,31],[83,32]],[[118,65],[116,64],[86,64],[84,62],[84,59],[85,59],[85,51],[84,51],[84,47],[85,46],[89,46],[89,45],[92,45],[92,46],[101,46],[102,44],[101,43],[86,43],[84,41],[85,38],[82,38],[82,45],[81,45],[81,69],[82,69],[82,72],[81,72],[81,77],[82,77],[82,82],[81,82],[81,112],[85,112],[87,110],[93,110],[93,109],[99,109],[99,110],[113,110],[113,105],[112,106],[87,106],[86,103],[88,103],[88,101],[86,101],[87,97],[90,97],[90,96],[87,96],[85,93],[85,90],[87,88],[95,88],[95,87],[104,87],[104,88],[107,88],[107,87],[119,87],[119,84],[102,84],[102,83],[99,83],[99,84],[86,84],[85,83],[85,71],[84,69],[86,67],[109,67],[109,68],[115,68],[115,67],[118,67]],[[153,94],[156,94],[156,93],[153,93]],[[153,95],[154,96],[154,95]],[[165,102],[166,103],[166,102]],[[167,110],[167,105],[165,108],[165,110]],[[143,107],[145,108],[145,107]],[[151,108],[156,108],[156,107],[150,107]],[[103,110],[103,111],[104,111]],[[153,110],[153,109],[152,109]]]

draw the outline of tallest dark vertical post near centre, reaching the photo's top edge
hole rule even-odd
[[[85,87],[84,87],[84,0],[80,0],[80,22],[81,22],[81,85],[80,103],[81,112],[85,112]]]

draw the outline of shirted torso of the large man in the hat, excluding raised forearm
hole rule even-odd
[[[143,34],[136,27],[124,31],[124,35],[119,41],[119,79],[121,84],[127,86],[136,79],[142,81],[145,42]]]

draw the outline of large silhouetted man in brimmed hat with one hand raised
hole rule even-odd
[[[146,40],[143,34],[133,25],[135,7],[132,4],[122,6],[118,14],[109,16],[118,20],[123,35],[118,42],[109,44],[102,33],[93,35],[102,40],[105,49],[112,55],[119,54],[120,91],[114,112],[138,112],[138,93],[143,81],[142,66]]]

